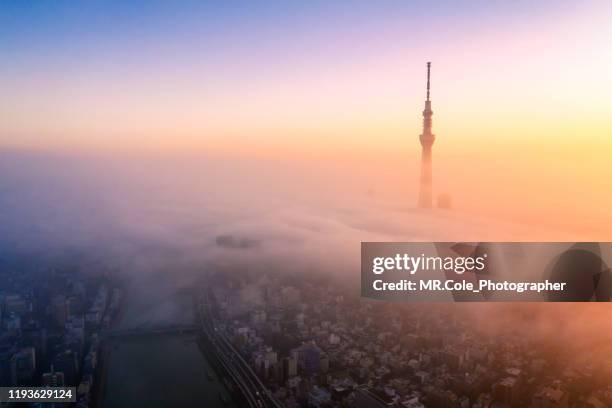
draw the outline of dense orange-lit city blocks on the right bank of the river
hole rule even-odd
[[[363,301],[325,282],[258,282],[254,309],[240,296],[252,283],[215,286],[219,327],[283,406],[612,406],[609,366],[570,366],[526,333],[481,336],[449,308]]]

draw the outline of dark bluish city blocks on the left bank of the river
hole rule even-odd
[[[75,267],[19,269],[0,267],[0,385],[76,387],[76,406],[90,406],[121,290]]]

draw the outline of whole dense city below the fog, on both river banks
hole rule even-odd
[[[112,274],[78,268],[17,272],[2,270],[1,384],[73,386],[76,406],[102,405],[104,350],[127,289]],[[330,283],[216,273],[194,285],[202,351],[216,361],[232,403],[612,406],[609,362],[572,365],[563,350],[521,331],[487,335],[450,308],[363,300]]]

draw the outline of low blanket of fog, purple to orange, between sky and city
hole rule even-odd
[[[0,154],[0,248],[94,252],[163,299],[207,265],[250,272],[319,272],[358,282],[361,241],[572,240],[572,233],[461,211],[419,212],[413,198],[373,193],[350,174],[202,158],[102,160]],[[404,200],[404,201],[402,201]],[[257,291],[244,293],[256,300]],[[146,303],[145,303],[146,304]],[[523,330],[604,347],[605,305],[444,305],[479,330]],[[586,358],[586,357],[585,357]]]

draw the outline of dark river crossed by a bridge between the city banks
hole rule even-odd
[[[129,296],[118,329],[192,323],[191,296]],[[103,406],[227,407],[229,393],[200,351],[194,335],[152,335],[113,340],[107,357]]]

